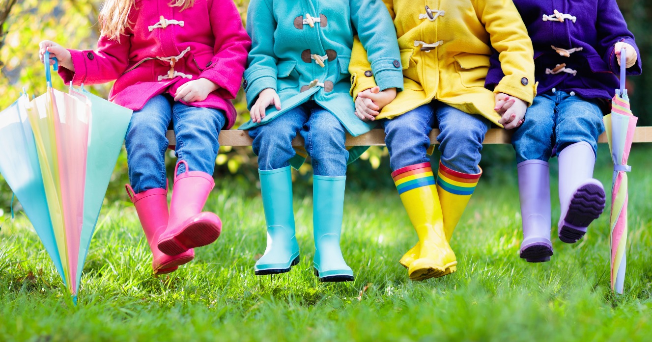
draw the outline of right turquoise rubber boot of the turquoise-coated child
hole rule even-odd
[[[352,281],[353,270],[340,249],[344,185],[346,176],[313,177],[313,225],[315,236],[315,275],[320,281]]]

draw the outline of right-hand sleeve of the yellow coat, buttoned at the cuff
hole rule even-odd
[[[505,76],[494,93],[505,93],[532,104],[537,93],[534,48],[512,0],[477,0],[475,10],[490,35]]]

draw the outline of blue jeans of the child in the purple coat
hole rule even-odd
[[[589,143],[595,153],[602,132],[602,110],[597,103],[563,91],[539,94],[512,136],[516,162],[548,162],[555,144],[559,154],[580,141]]]

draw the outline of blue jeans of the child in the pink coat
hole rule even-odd
[[[168,126],[174,124],[176,154],[188,163],[190,171],[213,175],[220,144],[217,141],[226,117],[219,109],[198,108],[175,102],[168,94],[147,101],[134,111],[126,132],[125,147],[129,179],[134,192],[164,189],[167,186],[165,152]],[[185,166],[179,166],[179,173]]]

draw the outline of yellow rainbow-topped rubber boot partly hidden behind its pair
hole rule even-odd
[[[452,232],[460,221],[464,209],[469,204],[473,190],[482,175],[480,173],[469,175],[453,171],[439,162],[437,173],[437,194],[441,203],[441,212],[444,218],[444,232],[450,242]],[[419,244],[411,248],[399,261],[405,268],[419,257]]]

